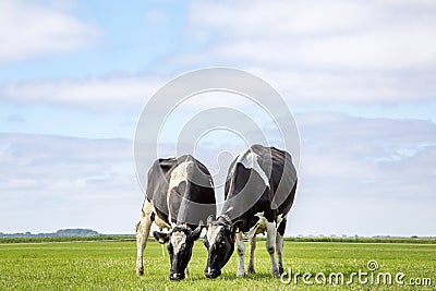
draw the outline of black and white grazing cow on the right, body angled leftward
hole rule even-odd
[[[221,268],[234,251],[234,243],[239,258],[237,275],[245,276],[242,232],[249,238],[251,248],[247,271],[254,274],[256,234],[265,231],[271,274],[280,276],[283,272],[281,252],[287,215],[293,204],[295,189],[296,171],[287,151],[253,145],[239,155],[229,168],[222,213],[216,220],[213,217],[207,220],[205,276],[217,278],[221,275]]]

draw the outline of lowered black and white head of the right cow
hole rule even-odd
[[[215,221],[209,217],[207,226],[207,235],[204,238],[208,252],[205,276],[215,279],[221,275],[221,268],[233,254],[237,227],[221,216]]]

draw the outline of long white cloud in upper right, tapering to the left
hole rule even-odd
[[[436,27],[436,25],[435,25]],[[342,70],[432,69],[434,28],[338,34],[307,39],[241,39],[211,49],[217,58],[266,66]]]

